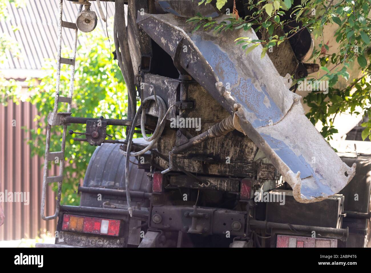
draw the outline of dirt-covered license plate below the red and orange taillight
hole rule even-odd
[[[59,231],[58,243],[77,247],[124,247],[124,237],[104,237],[90,234]]]

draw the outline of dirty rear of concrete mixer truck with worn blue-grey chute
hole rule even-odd
[[[290,71],[260,58],[260,47],[242,56],[234,40],[257,38],[253,30],[193,32],[191,14],[228,19],[214,2],[128,1],[125,22],[126,2],[115,1],[131,110],[118,121],[60,115],[66,126],[86,123],[75,141],[97,148],[80,206],[56,212],[54,247],[367,245],[370,158],[339,158],[282,76],[315,66],[293,50],[276,56]],[[128,126],[127,139],[105,139],[99,121]],[[135,127],[144,139],[132,138]]]

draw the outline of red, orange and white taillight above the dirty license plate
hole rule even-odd
[[[65,214],[63,215],[62,230],[119,236],[120,224],[120,220]]]

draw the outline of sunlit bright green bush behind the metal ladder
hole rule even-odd
[[[110,45],[107,37],[98,32],[84,33],[82,38],[89,42],[78,46],[75,71],[75,92],[73,94],[72,116],[104,118],[125,118],[128,98],[121,71],[116,61],[111,62]],[[111,39],[112,41],[112,39]],[[114,50],[114,49],[112,49]],[[67,57],[68,52],[62,53]],[[112,57],[113,58],[113,57]],[[35,120],[38,129],[32,129],[29,140],[32,155],[43,156],[45,153],[45,124],[49,112],[53,110],[56,86],[55,60],[45,65],[47,75],[39,84],[30,82],[30,102],[36,105],[39,115]],[[62,65],[60,95],[67,96],[69,91],[69,66]],[[66,103],[60,103],[59,112],[66,112]],[[50,151],[60,151],[62,126],[53,126],[50,138]],[[68,129],[85,132],[85,125],[71,124]],[[114,139],[124,138],[121,127],[107,126],[107,134]],[[62,204],[79,204],[76,193],[79,182],[85,175],[89,159],[95,147],[87,142],[75,142],[74,136],[67,134],[65,147],[65,170],[62,187]],[[55,164],[54,161],[51,164]],[[56,190],[56,185],[53,187]]]

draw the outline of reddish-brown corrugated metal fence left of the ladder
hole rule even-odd
[[[0,105],[0,192],[8,193],[4,196],[6,202],[1,203],[6,219],[0,227],[0,240],[35,238],[46,231],[55,231],[56,220],[44,221],[40,217],[44,161],[37,156],[31,157],[27,144],[30,133],[24,130],[37,128],[33,121],[36,114],[36,107],[29,102]],[[53,164],[49,175],[57,174],[56,167]],[[14,202],[15,198],[8,202],[11,199],[7,197],[20,192],[26,193],[23,202]],[[45,207],[47,215],[54,213],[55,194],[51,187],[48,187]]]

